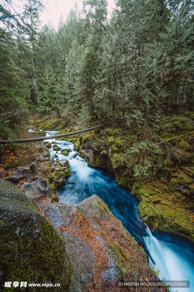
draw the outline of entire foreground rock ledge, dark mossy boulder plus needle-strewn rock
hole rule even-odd
[[[0,179],[0,204],[3,286],[5,281],[25,280],[60,283],[49,291],[116,292],[129,291],[129,287],[120,288],[119,281],[145,281],[146,277],[158,281],[143,249],[96,195],[78,206],[40,204],[38,211],[33,199]],[[166,290],[144,287],[144,291]]]

